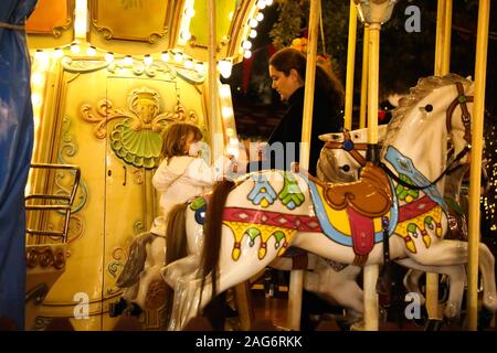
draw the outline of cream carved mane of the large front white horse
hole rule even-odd
[[[409,116],[409,113],[413,107],[417,105],[417,103],[420,103],[424,97],[431,94],[433,89],[442,86],[453,85],[455,83],[462,83],[464,88],[467,89],[467,86],[472,85],[473,82],[456,74],[420,78],[416,86],[411,87],[409,95],[402,97],[399,100],[399,106],[392,110],[392,120],[388,126],[387,137],[381,151],[382,154],[385,153],[387,148],[395,139],[405,118]]]

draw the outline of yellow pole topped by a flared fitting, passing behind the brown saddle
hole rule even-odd
[[[361,19],[369,23],[369,77],[368,77],[368,160],[379,162],[378,154],[378,94],[380,68],[380,31],[392,13],[396,0],[356,0]],[[363,267],[364,330],[378,331],[377,281],[379,265]]]

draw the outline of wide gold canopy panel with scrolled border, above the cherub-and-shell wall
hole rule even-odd
[[[170,49],[183,1],[91,0],[88,42],[109,52],[147,54]]]

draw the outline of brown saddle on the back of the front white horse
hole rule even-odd
[[[385,215],[393,203],[389,178],[380,167],[372,162],[366,163],[356,182],[327,184],[325,199],[335,210],[351,206],[359,214],[371,218]]]

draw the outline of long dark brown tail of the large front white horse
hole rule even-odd
[[[231,180],[223,180],[215,184],[209,201],[205,224],[203,226],[203,250],[200,261],[200,268],[203,275],[202,286],[205,277],[212,276],[212,298],[215,297],[216,290],[216,272],[219,263],[219,253],[221,249],[221,231],[224,204],[228,194],[233,190],[235,183]]]

